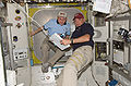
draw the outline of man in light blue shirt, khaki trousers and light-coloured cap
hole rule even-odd
[[[34,36],[38,32],[41,30],[48,30],[48,36],[44,39],[44,42],[41,45],[41,53],[44,56],[43,58],[43,72],[48,71],[48,66],[52,66],[66,52],[66,50],[60,50],[58,47],[56,47],[52,42],[49,41],[49,36],[57,33],[61,37],[69,39],[71,26],[67,22],[67,13],[60,11],[58,13],[57,19],[51,19],[49,22],[47,22],[43,27],[37,28],[35,32],[31,33],[31,36]],[[52,49],[55,51],[55,54],[52,58],[49,59],[49,50]]]

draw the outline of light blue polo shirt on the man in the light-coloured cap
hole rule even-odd
[[[70,35],[71,26],[69,23],[64,23],[64,25],[61,26],[56,19],[52,19],[44,25],[44,29],[48,30],[49,36],[55,33]]]

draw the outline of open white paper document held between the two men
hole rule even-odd
[[[67,46],[61,45],[60,40],[62,40],[62,38],[58,34],[56,34],[56,33],[49,37],[49,40],[52,41],[61,50],[64,50],[64,49],[70,47],[70,45],[67,45]]]

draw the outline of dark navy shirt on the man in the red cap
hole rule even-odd
[[[72,45],[73,50],[75,50],[76,48],[82,47],[82,46],[94,47],[94,41],[93,41],[94,28],[90,23],[83,23],[81,26],[76,27],[75,30],[73,32],[71,38],[79,38],[86,34],[88,34],[91,36],[90,41],[73,44]]]

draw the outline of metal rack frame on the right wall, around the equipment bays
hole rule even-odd
[[[108,41],[109,41],[109,64],[108,64],[108,66],[112,70],[112,71],[115,71],[115,72],[117,72],[118,74],[120,74],[120,75],[122,75],[123,77],[126,77],[127,79],[129,79],[130,82],[131,82],[131,70],[129,71],[129,73],[124,73],[123,71],[121,71],[120,69],[119,69],[119,66],[116,66],[116,65],[114,65],[112,64],[112,60],[114,60],[114,42],[112,42],[112,40],[114,40],[114,28],[112,28],[112,22],[111,21],[127,21],[127,20],[129,20],[129,28],[131,27],[130,26],[130,22],[131,22],[131,16],[121,16],[121,17],[114,17],[114,19],[110,19],[109,20],[109,39],[108,39]],[[131,45],[129,45],[129,50],[130,50],[130,52],[129,52],[129,62],[131,63]],[[129,66],[129,69],[131,69],[131,66]]]

